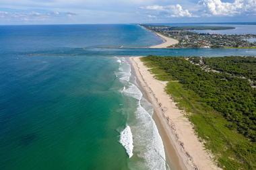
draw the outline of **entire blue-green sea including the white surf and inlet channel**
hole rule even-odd
[[[0,26],[0,169],[168,169],[126,56],[256,50],[141,48],[161,41],[131,24]]]

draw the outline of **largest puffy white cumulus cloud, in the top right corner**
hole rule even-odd
[[[232,3],[222,2],[221,0],[201,0],[205,7],[205,12],[210,15],[234,16],[243,13],[256,13],[256,0],[234,0]]]

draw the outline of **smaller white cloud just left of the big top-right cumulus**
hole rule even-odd
[[[167,17],[192,17],[192,14],[187,9],[183,9],[183,7],[179,4],[177,5],[151,5],[146,7],[141,7],[141,9],[147,9],[151,11],[158,11],[160,14],[164,14]]]

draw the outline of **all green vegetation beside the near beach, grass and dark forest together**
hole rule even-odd
[[[224,169],[256,169],[256,58],[141,58]],[[177,82],[179,81],[179,82]]]

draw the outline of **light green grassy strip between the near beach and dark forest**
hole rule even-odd
[[[173,78],[156,62],[141,58],[152,73],[162,81],[170,81],[166,91],[172,95],[178,107],[187,112],[195,132],[216,158],[223,169],[256,169],[256,145],[248,138],[230,128],[230,122],[205,103],[197,93],[187,89],[182,83],[171,82]]]

